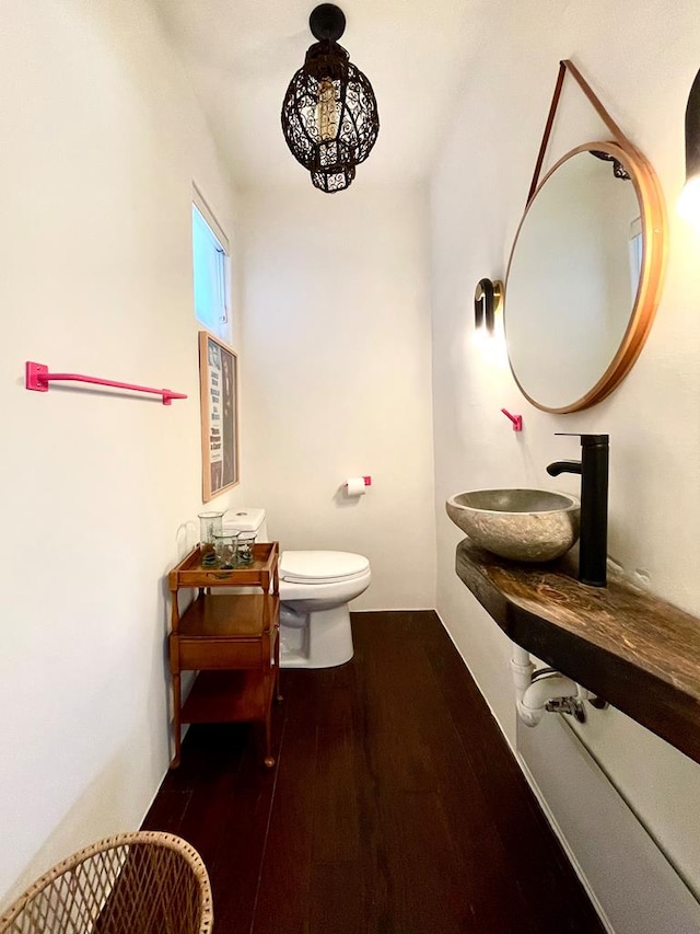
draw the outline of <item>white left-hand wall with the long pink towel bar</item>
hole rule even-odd
[[[5,0],[0,59],[1,900],[138,827],[166,769],[164,574],[201,509],[192,180],[230,234],[233,205],[142,0]],[[27,392],[27,359],[189,397]]]

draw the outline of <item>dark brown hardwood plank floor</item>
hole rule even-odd
[[[275,769],[194,726],[144,821],[201,854],[217,934],[602,932],[438,616],[352,626],[348,665],[282,671]]]

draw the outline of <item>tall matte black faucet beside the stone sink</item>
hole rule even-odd
[[[557,435],[569,435],[557,431]],[[581,438],[580,461],[555,461],[551,476],[581,474],[581,540],[579,580],[591,587],[607,585],[608,551],[608,435],[574,435]]]

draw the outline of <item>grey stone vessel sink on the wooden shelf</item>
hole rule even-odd
[[[445,506],[476,545],[512,561],[553,561],[579,539],[581,503],[565,493],[470,489]]]

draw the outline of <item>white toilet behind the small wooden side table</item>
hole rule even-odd
[[[255,532],[270,541],[265,509],[225,514],[224,531]],[[283,551],[280,577],[280,665],[334,668],[353,654],[348,603],[372,580],[364,555],[336,551]]]

